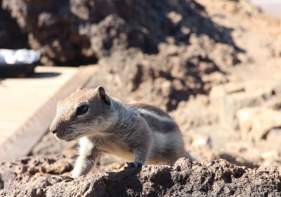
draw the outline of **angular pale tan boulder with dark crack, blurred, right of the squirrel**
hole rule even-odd
[[[217,112],[220,123],[230,129],[239,127],[237,111],[245,107],[261,106],[279,94],[280,81],[229,82],[214,86],[210,91],[210,103]]]

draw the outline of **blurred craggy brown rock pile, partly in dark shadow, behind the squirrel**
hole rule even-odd
[[[227,81],[221,69],[243,53],[232,30],[212,22],[194,0],[3,0],[2,6],[42,63],[98,61],[114,74],[112,82],[160,97],[168,111]]]

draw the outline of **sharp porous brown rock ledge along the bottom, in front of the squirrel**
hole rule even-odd
[[[197,162],[181,158],[174,164],[103,172],[59,183],[53,183],[50,177],[33,177],[24,184],[5,187],[0,195],[279,196],[280,192],[280,175],[276,168],[251,170],[224,159]]]

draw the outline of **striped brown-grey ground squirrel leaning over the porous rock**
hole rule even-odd
[[[86,175],[101,152],[127,159],[128,167],[172,163],[184,156],[182,134],[166,112],[124,103],[104,88],[78,88],[57,103],[50,131],[61,140],[80,139],[72,176]]]

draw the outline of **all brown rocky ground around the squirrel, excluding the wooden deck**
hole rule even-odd
[[[10,186],[0,194],[280,195],[277,18],[246,0],[44,2],[2,0],[41,62],[98,62],[87,86],[169,111],[194,162],[120,171],[124,161],[103,155],[91,176],[52,183],[44,177],[70,174],[76,150],[48,133],[30,157],[0,163],[0,187]]]

